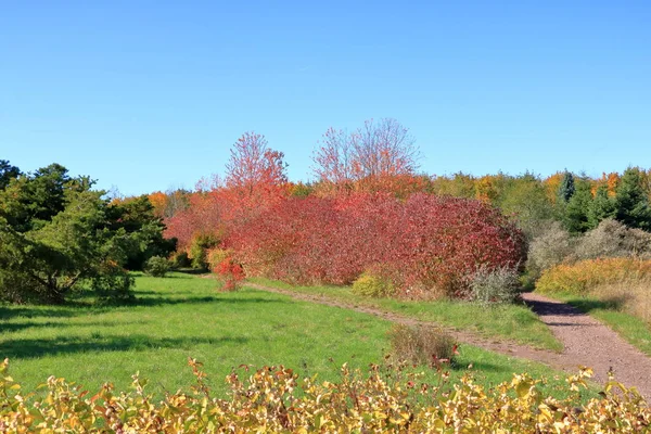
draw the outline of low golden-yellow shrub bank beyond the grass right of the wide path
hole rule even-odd
[[[561,264],[542,272],[536,290],[587,295],[600,285],[651,280],[651,260],[635,258],[587,259]]]

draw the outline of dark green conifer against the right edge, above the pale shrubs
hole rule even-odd
[[[624,171],[615,190],[615,219],[631,228],[651,230],[651,207],[637,167]]]

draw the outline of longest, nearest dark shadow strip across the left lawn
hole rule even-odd
[[[97,337],[54,337],[10,340],[0,344],[0,358],[30,359],[51,355],[101,352],[144,352],[149,349],[192,349],[195,345],[245,344],[244,337],[182,337],[156,339],[149,335]]]

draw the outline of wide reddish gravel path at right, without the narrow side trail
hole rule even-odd
[[[617,381],[635,385],[651,397],[651,358],[609,327],[565,303],[534,293],[525,293],[523,298],[563,343],[565,358],[591,367],[599,382],[605,381],[612,369]]]

